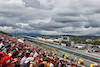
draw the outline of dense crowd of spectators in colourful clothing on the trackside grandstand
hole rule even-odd
[[[0,67],[79,67],[48,49],[0,33]]]

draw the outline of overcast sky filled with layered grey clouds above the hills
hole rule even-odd
[[[0,0],[8,33],[100,35],[100,0]]]

